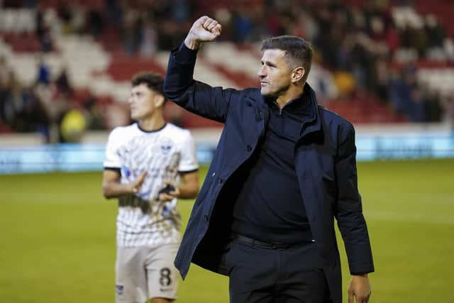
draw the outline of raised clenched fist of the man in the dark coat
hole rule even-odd
[[[201,43],[214,41],[218,38],[218,35],[221,35],[221,30],[222,27],[218,21],[208,16],[200,17],[192,24],[192,28],[184,39],[184,44],[187,48],[197,50]]]

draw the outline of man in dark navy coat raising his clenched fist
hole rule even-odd
[[[229,276],[231,302],[342,302],[333,227],[343,236],[349,302],[367,302],[372,253],[358,193],[353,126],[318,106],[306,83],[312,49],[294,36],[262,45],[259,89],[222,89],[193,79],[201,43],[221,25],[194,22],[170,55],[168,99],[225,123],[175,265]],[[226,58],[234,60],[234,58]]]

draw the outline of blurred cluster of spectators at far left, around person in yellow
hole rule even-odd
[[[4,131],[38,131],[45,142],[56,143],[77,142],[86,129],[105,129],[96,98],[87,92],[77,102],[65,69],[51,79],[48,65],[39,60],[35,79],[31,86],[23,86],[0,57],[0,128]]]

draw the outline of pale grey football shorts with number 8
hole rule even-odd
[[[173,262],[178,246],[117,246],[116,303],[145,303],[155,297],[177,299],[179,277]]]

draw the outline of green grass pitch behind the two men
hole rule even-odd
[[[454,302],[454,159],[360,162],[358,176],[370,302]],[[114,302],[117,209],[101,172],[1,175],[0,205],[0,302]],[[184,222],[191,207],[179,202]],[[226,303],[228,279],[193,265],[178,302]]]

